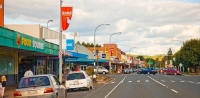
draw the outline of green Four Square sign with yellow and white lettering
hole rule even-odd
[[[15,47],[30,51],[45,52],[45,41],[22,33],[15,33]]]

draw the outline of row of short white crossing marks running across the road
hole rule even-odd
[[[157,80],[158,81],[158,80]],[[124,80],[123,81],[124,83],[154,83],[155,81],[153,81],[153,80],[144,80],[144,79],[142,79],[142,80],[128,80],[128,81],[126,81],[126,80]],[[167,83],[167,82],[171,82],[171,83],[192,83],[192,84],[199,84],[200,85],[200,82],[192,82],[192,81],[185,81],[185,80],[159,80],[159,82],[162,82],[162,83]],[[114,82],[112,82],[112,83],[114,83]]]

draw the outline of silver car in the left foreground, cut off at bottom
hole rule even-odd
[[[52,75],[21,78],[14,92],[15,98],[67,98],[66,88]]]

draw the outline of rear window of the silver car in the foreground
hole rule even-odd
[[[27,77],[22,78],[19,82],[18,88],[29,88],[36,86],[49,86],[49,78],[47,76]]]

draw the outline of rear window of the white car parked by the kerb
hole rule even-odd
[[[67,80],[85,79],[83,73],[71,73],[68,75]]]

